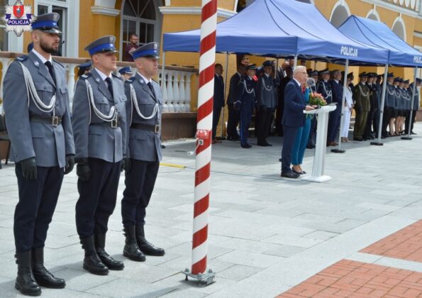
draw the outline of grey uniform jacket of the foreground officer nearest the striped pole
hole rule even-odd
[[[128,102],[126,104],[129,131],[128,156],[134,160],[153,162],[156,160],[162,160],[160,140],[161,129],[155,132],[148,131],[148,129],[135,128],[137,124],[148,127],[160,126],[161,128],[162,94],[160,85],[154,80],[151,81],[155,93],[154,95],[147,83],[148,82],[145,82],[144,79],[140,77],[138,72],[134,77],[131,77],[131,79],[128,79],[125,82],[125,93],[128,98]],[[145,119],[138,114],[138,111],[135,109],[135,105],[131,101],[131,84],[135,89],[136,101],[138,102],[140,114],[143,114],[145,118],[152,115],[155,104],[158,104],[159,110],[154,117]]]

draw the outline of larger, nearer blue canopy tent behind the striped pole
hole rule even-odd
[[[165,33],[162,65],[167,51],[199,52],[200,38],[200,30]],[[255,0],[240,13],[218,23],[216,52],[344,63],[345,73],[349,60],[354,64],[386,65],[389,57],[388,50],[365,45],[338,31],[313,4],[295,0]],[[338,150],[333,151],[344,152],[340,142]]]

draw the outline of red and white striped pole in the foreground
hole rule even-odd
[[[216,62],[217,0],[202,0],[199,92],[196,124],[194,236],[189,276],[210,283],[206,272],[208,208],[213,124],[214,65]]]

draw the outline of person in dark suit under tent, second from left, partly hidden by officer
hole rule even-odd
[[[228,89],[227,96],[227,140],[239,140],[240,138],[237,130],[240,121],[240,111],[234,108],[234,103],[238,100],[238,85],[245,72],[245,65],[239,65],[238,71],[230,78],[230,87]]]

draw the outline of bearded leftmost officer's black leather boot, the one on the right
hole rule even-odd
[[[37,248],[32,251],[32,272],[38,285],[41,287],[51,287],[62,289],[66,282],[62,278],[57,278],[44,267],[44,248]]]

